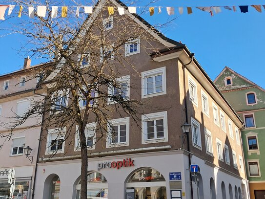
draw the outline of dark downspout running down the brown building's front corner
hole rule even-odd
[[[188,123],[188,110],[187,110],[187,95],[186,95],[186,83],[185,83],[185,66],[188,66],[191,64],[194,58],[194,53],[191,53],[190,62],[187,64],[184,64],[183,69],[183,88],[184,88],[184,106],[185,106],[185,120],[186,123]],[[189,146],[189,133],[187,133],[187,144],[188,144],[188,152],[190,152],[190,146]],[[191,156],[190,153],[188,155],[189,159],[189,165],[191,165]],[[192,185],[192,175],[191,172],[189,172],[189,178],[190,178],[190,192],[191,192],[191,199],[193,199],[193,185]]]

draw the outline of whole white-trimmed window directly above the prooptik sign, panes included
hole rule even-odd
[[[130,117],[109,121],[107,147],[129,145],[129,122]]]

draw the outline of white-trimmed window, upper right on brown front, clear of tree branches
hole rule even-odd
[[[142,98],[166,94],[165,67],[142,72]]]

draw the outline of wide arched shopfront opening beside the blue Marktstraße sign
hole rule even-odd
[[[166,199],[165,179],[153,168],[141,168],[127,180],[126,195],[128,193],[133,199]]]

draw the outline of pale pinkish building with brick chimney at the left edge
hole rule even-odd
[[[31,199],[36,170],[36,160],[41,133],[41,117],[29,118],[11,134],[11,128],[30,107],[32,98],[38,98],[34,89],[38,79],[31,60],[25,59],[24,67],[0,76],[0,196],[9,197],[8,174],[15,170],[14,199]],[[37,66],[40,67],[40,66]],[[24,148],[32,149],[29,159]],[[32,157],[33,156],[33,157]],[[31,162],[32,161],[32,162]]]

